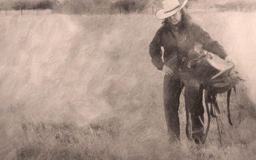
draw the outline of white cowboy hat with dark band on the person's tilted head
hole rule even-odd
[[[178,0],[165,0],[163,1],[164,8],[156,11],[156,18],[163,20],[167,17],[179,12],[186,4],[188,0],[185,0],[182,4]]]

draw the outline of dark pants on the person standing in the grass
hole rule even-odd
[[[196,143],[199,143],[203,138],[203,125],[200,121],[204,122],[204,107],[203,107],[203,87],[196,82],[183,83],[179,75],[165,75],[164,76],[164,112],[167,124],[167,131],[170,141],[180,140],[180,119],[179,119],[179,105],[180,93],[185,86],[185,108],[187,127],[186,133],[188,137],[188,115],[190,113],[192,121],[192,138]]]

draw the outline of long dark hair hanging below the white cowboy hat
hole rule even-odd
[[[180,26],[180,28],[187,28],[187,26],[192,23],[192,18],[191,18],[191,16],[188,14],[188,12],[187,12],[187,10],[186,10],[185,7],[182,8],[182,9],[180,10],[180,12],[181,12],[181,21],[180,21],[180,23],[179,23],[179,26]],[[165,18],[165,19],[163,20],[162,24],[163,24],[163,25],[170,25],[170,26],[173,26],[172,23],[170,23],[167,18]]]

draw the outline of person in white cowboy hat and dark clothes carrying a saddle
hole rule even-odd
[[[180,79],[178,62],[175,61],[179,52],[189,52],[195,45],[200,44],[204,50],[216,54],[221,59],[236,65],[236,60],[228,56],[224,48],[199,25],[192,22],[184,7],[188,0],[182,4],[178,0],[163,1],[163,9],[156,12],[158,19],[164,20],[149,45],[149,54],[153,65],[165,73],[164,76],[164,112],[167,124],[169,142],[180,140],[179,105],[180,93],[185,88],[185,108],[187,126],[188,113],[192,121],[192,138],[199,144],[204,138],[204,107],[203,87],[198,82],[182,82]],[[162,49],[163,59],[162,59]],[[166,64],[172,60],[172,66]],[[203,122],[203,123],[202,123]],[[188,137],[188,127],[186,133]]]

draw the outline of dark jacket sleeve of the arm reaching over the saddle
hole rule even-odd
[[[196,26],[197,37],[200,38],[198,41],[203,44],[203,49],[213,54],[216,54],[221,59],[225,59],[228,54],[219,42],[212,39],[212,37],[205,32],[200,26]]]

